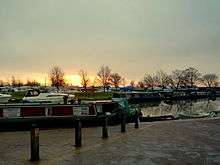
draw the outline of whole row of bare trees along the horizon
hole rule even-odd
[[[81,85],[84,90],[91,85],[91,80],[89,78],[88,72],[86,69],[79,70],[79,76],[81,78]],[[65,73],[63,69],[59,66],[53,66],[49,71],[49,80],[51,86],[63,87],[68,84],[65,81]],[[94,84],[98,84],[103,87],[103,90],[106,91],[110,86],[115,87],[117,90],[119,86],[125,86],[126,80],[117,72],[112,72],[109,66],[101,66],[97,71]],[[27,82],[24,84],[19,79],[16,79],[12,76],[11,83],[7,83],[14,87],[18,86],[40,86],[40,83],[36,80]],[[3,81],[0,81],[0,86],[3,86]],[[171,74],[168,74],[162,70],[159,70],[152,74],[145,74],[141,80],[135,82],[134,80],[130,81],[130,87],[138,87],[143,89],[154,89],[155,87],[161,88],[193,88],[197,86],[205,87],[216,87],[218,86],[218,76],[215,73],[201,74],[201,72],[193,67],[188,67],[183,70],[173,70]]]

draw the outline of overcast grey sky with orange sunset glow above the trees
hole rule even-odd
[[[78,81],[108,65],[127,79],[192,66],[217,73],[219,0],[0,0],[0,79]]]

